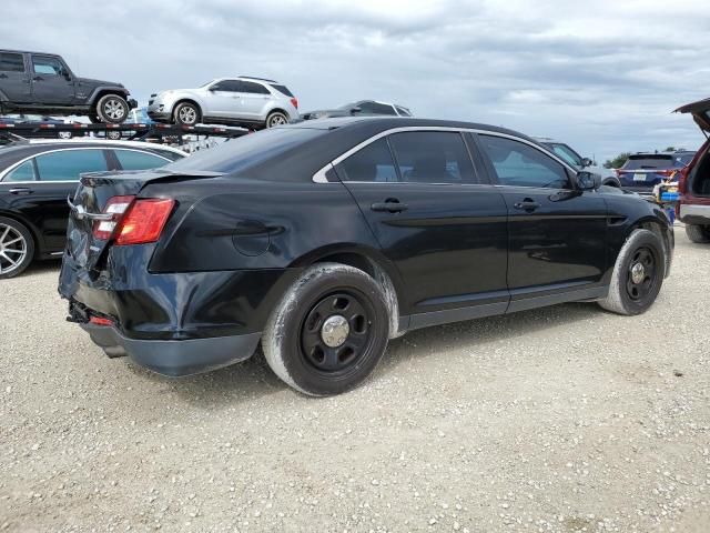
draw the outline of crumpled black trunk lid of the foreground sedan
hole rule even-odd
[[[74,198],[68,199],[71,210],[67,230],[67,253],[79,266],[94,270],[103,251],[112,241],[112,235],[104,238],[98,235],[95,231],[98,224],[116,227],[128,207],[148,183],[217,175],[222,174],[200,171],[183,174],[161,169],[81,174]],[[118,202],[116,198],[120,199]]]

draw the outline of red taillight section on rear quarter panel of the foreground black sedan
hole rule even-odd
[[[158,241],[174,205],[174,200],[159,198],[136,200],[119,223],[115,244],[123,247]]]

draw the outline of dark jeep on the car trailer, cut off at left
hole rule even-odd
[[[0,50],[0,114],[83,114],[120,124],[135,100],[121,83],[79,78],[53,53]]]

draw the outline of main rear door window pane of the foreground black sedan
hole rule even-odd
[[[453,131],[412,131],[389,135],[399,180],[415,183],[476,183],[464,138]]]

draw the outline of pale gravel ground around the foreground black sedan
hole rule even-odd
[[[322,400],[109,360],[36,266],[0,282],[0,531],[708,532],[710,248],[677,238],[642,316],[417,331]]]

